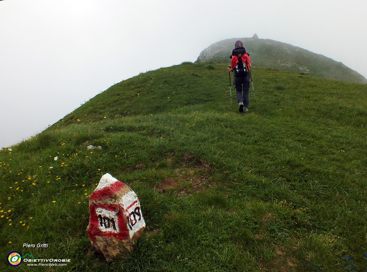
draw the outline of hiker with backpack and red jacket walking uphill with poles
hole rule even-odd
[[[250,88],[248,71],[251,69],[251,61],[243,47],[242,41],[236,41],[235,49],[232,50],[230,58],[232,59],[232,63],[228,67],[228,71],[235,71],[235,87],[239,111],[248,113],[248,89]]]

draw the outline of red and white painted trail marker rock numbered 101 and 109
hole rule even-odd
[[[135,249],[145,229],[138,196],[110,174],[102,176],[89,196],[88,237],[106,260]]]

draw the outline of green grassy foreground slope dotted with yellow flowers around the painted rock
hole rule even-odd
[[[254,66],[245,115],[226,66],[143,73],[1,150],[0,270],[18,251],[71,259],[49,271],[364,271],[367,86]],[[112,262],[86,232],[105,173],[137,193],[147,225]]]

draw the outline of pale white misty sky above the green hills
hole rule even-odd
[[[366,0],[1,0],[0,148],[121,80],[254,33],[367,77],[366,10]]]

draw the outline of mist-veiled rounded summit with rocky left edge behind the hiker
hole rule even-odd
[[[243,41],[253,65],[287,72],[338,79],[355,83],[367,83],[367,79],[355,70],[324,55],[292,46],[280,41],[251,38],[233,38],[218,41],[201,51],[196,62],[218,61],[230,63],[230,54],[237,40]]]

